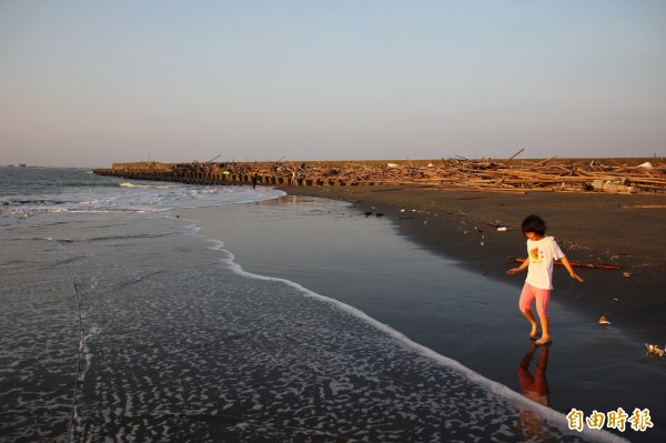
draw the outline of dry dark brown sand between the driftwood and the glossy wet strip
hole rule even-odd
[[[534,192],[524,194],[451,191],[432,187],[281,188],[287,194],[355,203],[359,211],[391,220],[423,248],[461,262],[484,276],[514,284],[507,276],[524,258],[522,220],[536,213],[571,261],[608,263],[620,270],[576,268],[585,283],[572,282],[556,266],[553,296],[596,322],[612,324],[640,343],[666,343],[666,197]],[[497,231],[492,224],[508,226]],[[516,295],[517,302],[517,295]],[[556,331],[554,332],[556,333]]]

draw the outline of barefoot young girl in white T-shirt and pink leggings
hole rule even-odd
[[[521,293],[518,308],[527,321],[532,324],[529,338],[536,340],[538,325],[532,314],[532,302],[536,300],[536,312],[542,326],[542,336],[535,341],[536,344],[551,343],[548,301],[553,290],[553,263],[561,260],[569,275],[583,282],[583,279],[574,272],[572,264],[552,236],[546,236],[546,223],[538,215],[529,215],[523,220],[521,225],[523,234],[527,239],[527,260],[518,268],[509,269],[506,273],[517,274],[527,269],[527,278]]]

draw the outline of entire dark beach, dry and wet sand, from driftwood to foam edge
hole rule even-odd
[[[635,409],[649,410],[654,427],[614,432],[640,442],[666,437],[666,359],[646,356],[644,345],[666,342],[660,281],[666,262],[660,253],[666,230],[664,197],[389,187],[285,191],[292,195],[258,203],[251,220],[246,209],[234,215],[233,208],[196,210],[195,218],[204,234],[224,239],[225,249],[250,272],[285,278],[352,304],[517,392],[523,383],[522,363],[531,363],[527,368],[534,374],[536,362],[544,363],[547,353],[549,407],[565,414],[577,409],[586,415],[618,407],[629,415]],[[343,210],[351,213],[325,204],[313,207],[319,198],[351,202]],[[266,212],[262,209],[266,205],[278,211]],[[309,205],[310,212],[299,212]],[[377,213],[383,215],[377,218]],[[569,260],[623,266],[577,268],[585,283],[556,268],[553,344],[536,350],[517,310],[524,274],[506,275],[516,265],[511,258],[525,255],[519,223],[529,213],[546,220],[548,233],[557,238]],[[183,215],[188,217],[186,211]],[[497,231],[497,223],[508,230]],[[373,241],[372,230],[386,226],[405,239],[398,244],[404,250],[393,253],[391,243],[364,251],[361,240]],[[281,235],[275,236],[276,232]],[[426,255],[425,261],[403,270],[401,261],[415,256],[410,249],[427,251],[432,263]],[[453,266],[454,274],[460,266],[461,278],[484,284],[483,291],[461,291],[460,296],[441,293],[450,286],[437,281],[437,270],[432,269],[437,265]],[[441,280],[450,279],[451,272],[442,272]],[[609,326],[598,324],[602,314],[610,320]]]

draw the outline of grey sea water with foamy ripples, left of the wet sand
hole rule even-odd
[[[620,441],[176,217],[282,194],[0,169],[0,440]]]

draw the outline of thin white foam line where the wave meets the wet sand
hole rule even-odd
[[[195,228],[195,231],[199,232],[199,229]],[[593,430],[593,429],[587,429],[587,427],[585,427],[582,432],[572,430],[568,425],[568,421],[567,421],[565,414],[563,414],[558,411],[552,410],[547,406],[541,405],[538,403],[535,403],[535,402],[526,399],[524,395],[513,391],[508,386],[506,386],[502,383],[495,382],[491,379],[487,379],[487,377],[483,376],[482,374],[468,369],[467,366],[461,364],[458,361],[450,359],[447,356],[444,356],[444,355],[431,350],[430,348],[426,348],[424,345],[421,345],[421,344],[412,341],[410,338],[402,334],[401,332],[394,330],[393,328],[389,326],[387,324],[384,324],[384,323],[371,318],[365,312],[363,312],[354,306],[351,306],[339,300],[331,299],[329,296],[319,294],[319,293],[311,291],[307,288],[304,288],[304,286],[300,285],[299,283],[292,282],[290,280],[280,279],[280,278],[275,278],[275,276],[259,275],[259,274],[254,274],[252,272],[248,272],[248,271],[243,270],[243,268],[238,262],[235,262],[234,254],[224,249],[224,242],[222,242],[220,240],[215,240],[215,239],[210,239],[210,238],[208,239],[208,241],[211,244],[211,249],[220,251],[224,255],[224,258],[221,259],[221,262],[224,263],[233,272],[235,272],[240,275],[250,278],[250,279],[282,282],[282,283],[287,284],[289,286],[297,290],[301,294],[303,294],[305,296],[316,299],[323,303],[331,304],[331,305],[340,309],[341,311],[344,311],[351,315],[354,315],[355,318],[371,324],[372,326],[376,328],[377,330],[392,336],[397,343],[400,343],[405,349],[408,349],[422,356],[431,359],[432,361],[441,364],[442,366],[457,371],[461,375],[463,375],[467,380],[476,383],[477,385],[484,387],[486,391],[507,400],[508,402],[519,406],[521,409],[529,410],[531,412],[533,412],[533,413],[537,414],[539,417],[542,417],[544,421],[546,421],[549,424],[557,427],[559,430],[559,432],[562,432],[562,434],[564,434],[564,435],[574,435],[574,436],[579,435],[589,441],[604,442],[604,443],[627,443],[628,442],[628,440],[626,440],[619,435],[613,434],[605,430]]]

